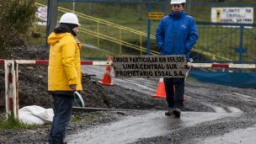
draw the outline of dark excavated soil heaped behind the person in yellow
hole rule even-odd
[[[45,48],[28,49],[14,48],[6,59],[15,60],[48,60],[48,51]],[[163,109],[163,100],[147,99],[143,93],[130,89],[103,86],[87,73],[83,73],[82,96],[86,107],[118,108],[118,109]],[[4,70],[0,65],[0,95],[4,105]],[[140,99],[137,97],[141,96]],[[136,100],[135,100],[136,99]],[[160,102],[160,104],[159,104]],[[47,93],[47,66],[19,65],[19,104],[39,105],[44,108],[52,107],[51,95]]]

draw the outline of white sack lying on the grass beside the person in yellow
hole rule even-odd
[[[53,116],[53,109],[45,109],[36,105],[19,109],[19,120],[27,124],[44,125],[52,122]]]

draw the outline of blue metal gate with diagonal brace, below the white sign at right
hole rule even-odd
[[[200,38],[195,47],[200,48],[201,51],[195,50],[197,53],[192,56],[195,61],[239,61],[239,63],[256,61],[254,40],[256,24],[210,22],[196,24]],[[208,56],[210,59],[205,60],[203,56]]]

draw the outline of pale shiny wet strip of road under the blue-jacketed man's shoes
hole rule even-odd
[[[79,134],[67,136],[70,143],[120,144],[140,138],[165,136],[182,127],[193,126],[205,121],[234,117],[241,113],[183,112],[180,119],[165,116],[164,111],[152,111],[147,115],[127,116],[109,125],[98,125]]]

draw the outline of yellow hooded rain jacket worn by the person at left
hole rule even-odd
[[[48,91],[72,91],[70,84],[82,90],[80,48],[76,38],[70,33],[51,33],[48,66]]]

